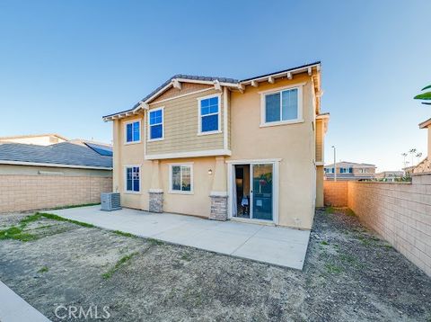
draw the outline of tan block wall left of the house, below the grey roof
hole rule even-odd
[[[111,177],[0,174],[0,213],[95,203],[111,191]]]

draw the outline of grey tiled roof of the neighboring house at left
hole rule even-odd
[[[50,146],[0,144],[0,164],[44,165],[75,168],[112,168],[112,157],[102,156],[87,145],[61,142]]]

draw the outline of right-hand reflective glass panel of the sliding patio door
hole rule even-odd
[[[273,165],[252,165],[252,218],[272,220]]]

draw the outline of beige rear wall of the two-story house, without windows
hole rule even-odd
[[[288,85],[303,85],[303,121],[295,124],[284,124],[271,127],[260,127],[260,91],[277,89]],[[166,101],[151,105],[164,106],[165,109],[165,140],[147,142],[148,153],[159,154],[166,152],[184,152],[197,149],[223,148],[223,134],[213,137],[198,137],[198,101],[197,97],[210,93],[193,94],[174,101]],[[225,161],[281,159],[279,163],[279,213],[278,224],[295,228],[311,228],[314,215],[315,196],[318,189],[316,184],[315,133],[312,127],[314,121],[314,107],[312,105],[311,77],[302,74],[295,75],[293,80],[286,78],[277,80],[275,84],[261,83],[255,88],[247,86],[244,94],[228,92],[230,102],[228,128],[231,131],[229,139],[232,156]],[[168,104],[169,103],[169,104]],[[220,101],[223,112],[223,95]],[[182,105],[181,105],[182,104]],[[170,110],[170,112],[168,112]],[[175,117],[179,121],[173,121]],[[124,144],[124,122],[141,119],[141,131],[144,133],[144,116],[131,116],[114,121],[114,191],[121,192],[124,207],[148,210],[148,190],[151,186],[153,162],[145,160],[145,144]],[[221,117],[223,127],[223,115]],[[171,127],[176,132],[170,132]],[[180,134],[180,130],[183,131]],[[223,130],[223,128],[222,128]],[[173,133],[177,133],[174,135]],[[143,135],[141,135],[144,138]],[[177,141],[176,137],[179,137]],[[170,138],[170,139],[168,139]],[[203,141],[200,141],[203,138]],[[175,143],[176,142],[176,143]],[[206,143],[202,143],[206,142]],[[213,143],[216,142],[216,145]],[[150,148],[150,144],[160,144],[158,148]],[[194,194],[169,193],[170,163],[193,162]],[[141,192],[124,192],[124,166],[141,165]],[[161,160],[160,185],[163,189],[164,210],[169,212],[186,213],[208,217],[210,211],[209,194],[213,187],[215,174],[208,175],[208,170],[216,168],[216,157],[192,157],[181,159]],[[224,181],[217,186],[225,186]]]

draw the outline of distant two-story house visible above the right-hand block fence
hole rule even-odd
[[[355,163],[341,161],[335,164],[325,165],[325,179],[334,180],[334,173],[337,173],[337,180],[366,180],[373,179],[375,175],[375,165],[365,163]]]

